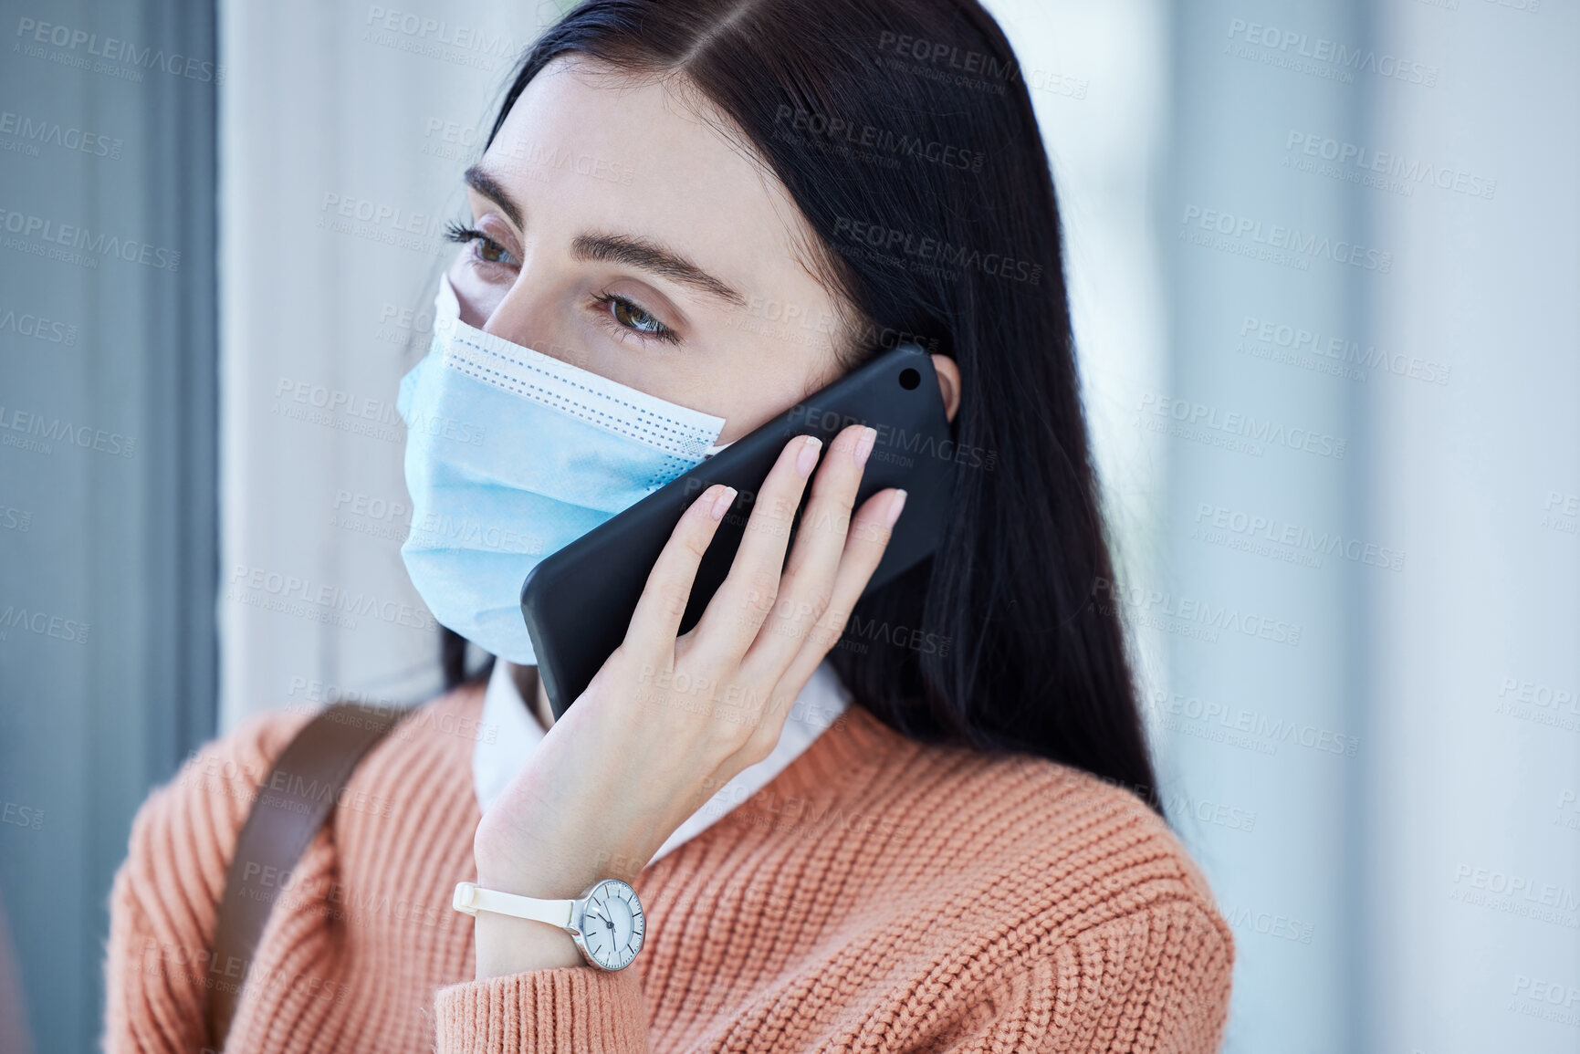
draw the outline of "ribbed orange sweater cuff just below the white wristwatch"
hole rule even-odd
[[[645,1054],[637,972],[591,966],[463,981],[434,994],[438,1054]]]

